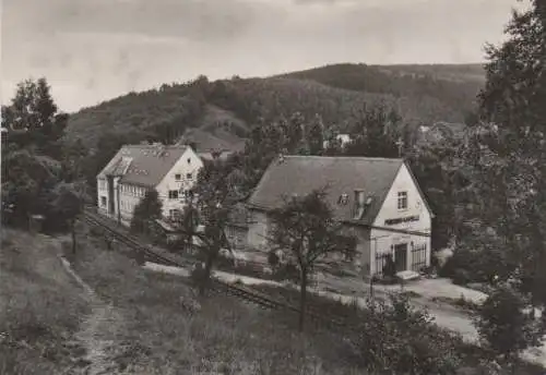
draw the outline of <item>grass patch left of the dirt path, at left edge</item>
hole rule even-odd
[[[60,374],[64,341],[87,310],[82,290],[61,266],[61,243],[2,229],[0,252],[0,374]]]

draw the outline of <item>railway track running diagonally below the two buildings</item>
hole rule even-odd
[[[81,217],[81,220],[93,227],[97,227],[104,230],[104,232],[107,233],[107,235],[110,235],[117,241],[122,242],[129,247],[135,250],[136,252],[140,252],[151,262],[168,266],[182,267],[182,268],[187,268],[189,266],[191,267],[193,265],[193,262],[190,262],[188,259],[183,259],[179,256],[167,254],[166,252],[159,253],[159,250],[155,250],[152,249],[151,246],[143,245],[139,241],[139,239],[128,233],[124,233],[121,229],[118,229],[117,225],[112,223],[110,219],[100,217],[91,208],[85,208]],[[300,312],[298,307],[295,307],[292,304],[284,301],[277,301],[266,293],[259,292],[257,290],[252,290],[244,286],[224,282],[218,279],[211,280],[211,289],[215,293],[225,293],[227,295],[233,295],[244,300],[245,302],[250,302],[252,304],[256,304],[264,310],[288,311],[297,314],[299,314]],[[311,319],[319,322],[321,324],[327,324],[329,326],[337,328],[347,327],[347,325],[340,317],[325,316],[311,305],[308,305],[306,307],[306,315]]]

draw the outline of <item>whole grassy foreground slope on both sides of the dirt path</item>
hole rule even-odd
[[[116,322],[94,328],[111,340],[107,362],[117,367],[112,374],[367,374],[354,364],[340,332],[314,327],[300,336],[292,314],[222,294],[199,300],[178,277],[145,271],[120,253],[105,251],[85,228],[79,240],[74,268],[117,312]],[[25,347],[0,343],[1,374],[62,374],[68,367],[70,353],[62,342],[90,310],[60,267],[60,249],[59,240],[44,235],[2,233],[0,331]],[[296,291],[271,292],[297,300]],[[324,311],[353,312],[313,300]],[[521,374],[541,371],[529,367]]]

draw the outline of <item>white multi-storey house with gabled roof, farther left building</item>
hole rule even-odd
[[[134,207],[149,190],[156,190],[163,216],[183,208],[203,160],[185,145],[126,145],[97,176],[98,211],[130,225]]]

